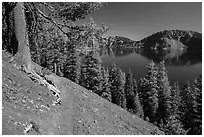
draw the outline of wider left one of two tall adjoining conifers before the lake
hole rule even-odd
[[[138,84],[138,93],[143,106],[144,117],[148,117],[150,122],[156,121],[156,112],[158,109],[158,68],[152,61],[148,68],[145,78],[140,79]]]

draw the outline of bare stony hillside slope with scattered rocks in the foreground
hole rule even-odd
[[[3,135],[163,134],[97,94],[50,73],[47,81],[60,91],[59,102],[46,86],[9,62],[10,54],[2,54]]]

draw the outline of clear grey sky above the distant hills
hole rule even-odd
[[[87,18],[90,17],[97,25],[111,26],[104,36],[124,36],[133,40],[163,30],[202,32],[201,2],[110,2]]]

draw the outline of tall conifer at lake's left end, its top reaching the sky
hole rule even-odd
[[[101,44],[101,36],[107,31],[107,28],[104,26],[102,28],[98,27],[91,19],[91,22],[84,29],[84,32],[80,33],[82,35],[80,44],[83,46],[78,46],[79,48],[77,49],[81,57],[81,61],[79,61],[81,63],[77,63],[77,69],[81,68],[81,73],[77,70],[76,82],[100,95],[102,90],[102,61],[99,46]]]

